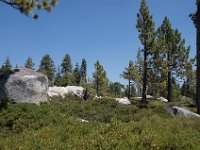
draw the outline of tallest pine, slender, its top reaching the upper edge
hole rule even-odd
[[[144,66],[143,66],[143,91],[142,91],[142,103],[146,103],[147,95],[147,72],[149,56],[152,54],[155,42],[155,24],[153,17],[150,15],[149,8],[146,4],[146,0],[141,1],[139,13],[137,14],[137,26],[139,39],[144,46]]]

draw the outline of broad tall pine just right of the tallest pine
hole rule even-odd
[[[185,47],[181,33],[173,30],[167,17],[158,28],[159,57],[155,58],[157,68],[167,69],[167,99],[172,101],[172,78],[180,77],[186,67],[190,47]]]

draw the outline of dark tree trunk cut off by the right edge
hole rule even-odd
[[[196,49],[197,49],[197,82],[196,82],[196,107],[197,113],[200,114],[200,3],[197,3],[197,13],[196,13]]]

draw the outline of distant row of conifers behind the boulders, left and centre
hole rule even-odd
[[[15,66],[18,68],[19,66]],[[21,67],[21,66],[20,66]],[[35,69],[35,63],[31,57],[28,57],[24,66],[29,69]],[[13,66],[9,57],[0,68],[0,73],[11,70]],[[72,59],[69,54],[66,54],[59,67],[55,67],[54,61],[50,55],[46,54],[42,57],[39,67],[36,70],[47,76],[49,86],[82,86],[92,95],[97,96],[112,96],[123,97],[128,94],[128,87],[119,82],[110,82],[107,78],[104,67],[97,60],[94,64],[94,72],[92,78],[87,76],[87,61],[82,59],[80,65],[76,63],[73,67]],[[136,94],[136,89],[132,87],[131,95]]]

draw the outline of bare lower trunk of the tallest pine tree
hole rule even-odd
[[[146,103],[147,100],[147,52],[146,46],[144,46],[144,72],[143,72],[143,89],[142,89],[142,103]]]

